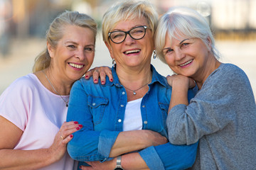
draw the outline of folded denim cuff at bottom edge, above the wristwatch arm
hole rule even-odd
[[[146,165],[149,166],[149,169],[164,170],[164,164],[153,146],[143,149],[139,154],[144,162],[146,162]]]

